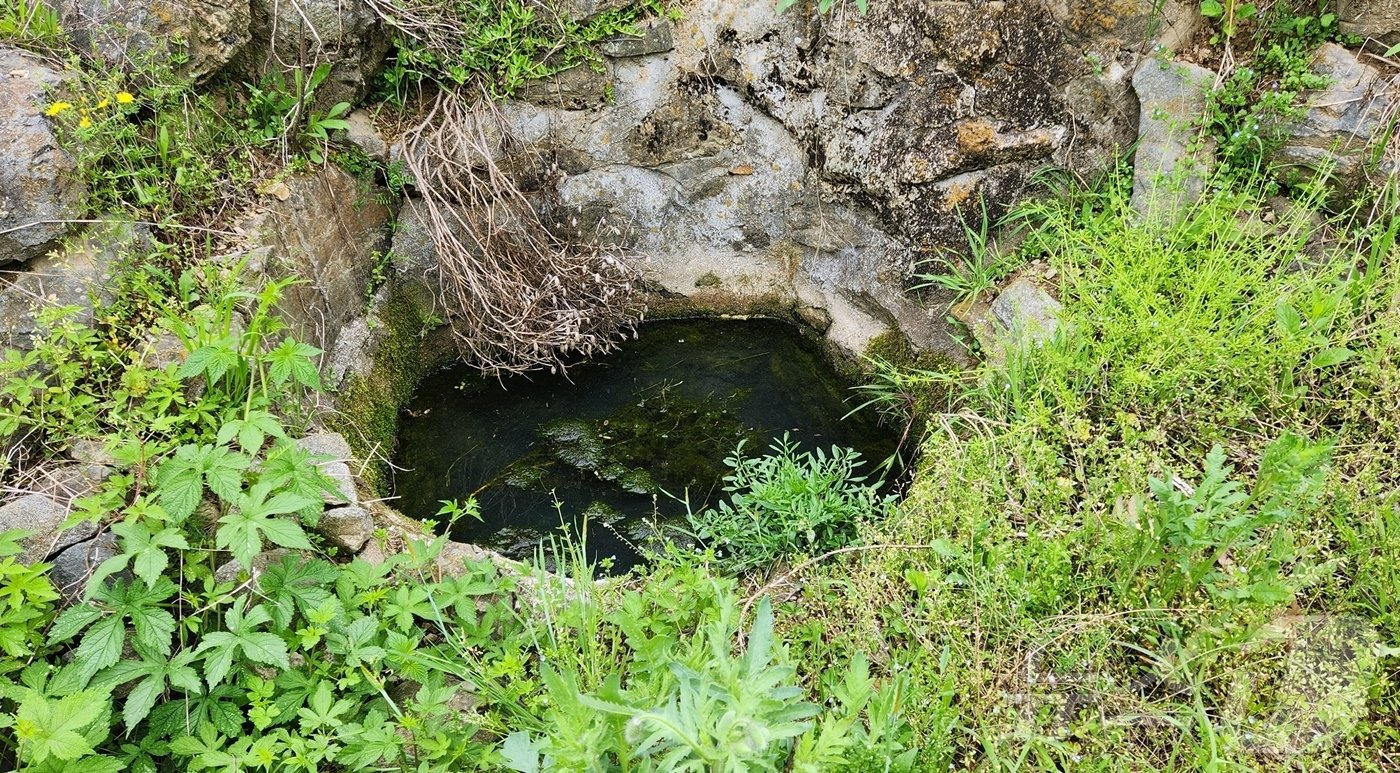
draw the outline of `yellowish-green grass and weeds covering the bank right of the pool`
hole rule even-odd
[[[956,405],[871,549],[806,570],[778,627],[801,662],[907,676],[920,769],[1394,759],[1400,221],[1334,218],[1316,252],[1261,188],[1165,234],[1121,175],[1029,204],[1057,337],[902,382]],[[1309,648],[1322,625],[1354,633]],[[1351,709],[1295,709],[1324,695]]]

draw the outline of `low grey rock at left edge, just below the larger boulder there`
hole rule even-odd
[[[94,298],[99,304],[111,298],[113,262],[144,238],[129,224],[97,225],[20,270],[0,270],[0,347],[29,349],[45,308],[77,307],[73,319],[91,322]]]

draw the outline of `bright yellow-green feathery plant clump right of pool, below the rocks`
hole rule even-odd
[[[1029,204],[1023,249],[1061,277],[1070,333],[1009,351],[976,401],[998,417],[1121,410],[1204,429],[1324,388],[1348,357],[1359,280],[1291,270],[1316,259],[1301,223],[1264,223],[1263,185],[1207,197],[1166,235],[1135,224],[1124,176],[1078,204]]]

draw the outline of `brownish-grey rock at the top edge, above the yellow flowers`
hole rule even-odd
[[[217,73],[249,41],[248,0],[57,0],[63,29],[115,66],[168,60],[199,80]]]

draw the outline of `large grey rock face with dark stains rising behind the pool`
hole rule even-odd
[[[556,227],[645,255],[658,290],[711,309],[804,309],[846,350],[897,326],[962,357],[951,295],[911,302],[911,266],[965,248],[962,221],[983,203],[1000,217],[1035,169],[1107,165],[1135,137],[1140,52],[1187,39],[1194,6],[876,3],[819,17],[693,0],[669,50],[647,53],[664,24],[615,41],[610,88],[580,69],[578,85],[526,90],[503,113],[564,172]]]

